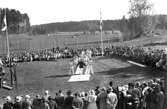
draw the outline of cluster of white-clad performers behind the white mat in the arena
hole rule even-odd
[[[79,56],[75,56],[70,61],[70,75],[89,75],[94,74],[93,71],[92,51],[82,51]]]

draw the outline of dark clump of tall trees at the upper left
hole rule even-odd
[[[6,21],[9,34],[26,33],[30,31],[30,21],[27,13],[21,13],[15,9],[0,8],[0,27],[3,27],[3,19],[6,13]],[[2,31],[1,31],[2,32]]]

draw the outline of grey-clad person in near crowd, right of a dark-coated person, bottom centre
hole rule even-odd
[[[83,100],[79,97],[78,92],[74,94],[72,106],[73,106],[73,109],[82,109],[83,108]]]

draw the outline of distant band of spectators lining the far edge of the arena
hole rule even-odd
[[[87,49],[78,48],[62,48],[42,50],[30,50],[21,52],[12,52],[10,58],[13,62],[30,62],[30,61],[56,61],[57,59],[73,58],[81,54]],[[92,56],[100,56],[101,48],[89,48],[92,51]],[[133,60],[141,64],[151,66],[158,69],[163,69],[166,63],[166,49],[154,49],[144,47],[129,47],[129,46],[110,46],[104,48],[104,56],[117,56],[123,59]],[[8,61],[6,57],[3,60]]]

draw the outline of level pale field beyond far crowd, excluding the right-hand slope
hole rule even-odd
[[[103,34],[105,45],[118,40],[117,34]],[[23,51],[29,49],[46,49],[53,47],[90,47],[100,45],[100,34],[83,34],[78,32],[61,32],[47,35],[30,36],[28,34],[9,35],[11,51]],[[6,52],[6,37],[0,36],[0,53]]]

